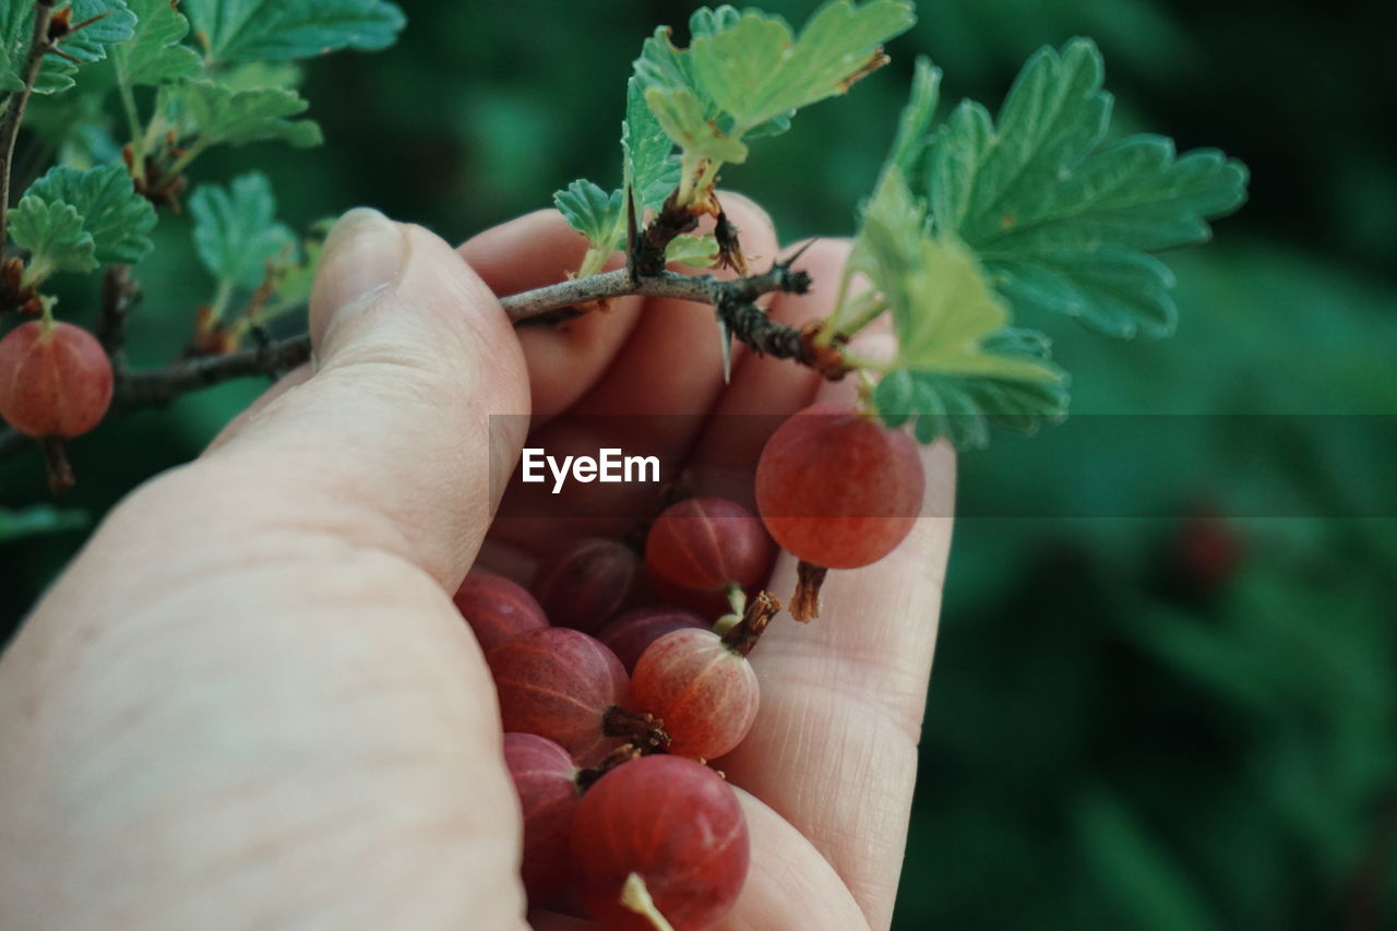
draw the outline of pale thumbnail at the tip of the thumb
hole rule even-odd
[[[402,274],[405,242],[397,224],[370,207],[355,207],[326,239],[316,271],[310,330],[319,342],[330,322],[369,306]]]

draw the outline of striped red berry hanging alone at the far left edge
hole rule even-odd
[[[91,333],[31,320],[0,340],[0,417],[27,436],[73,439],[112,405],[112,362]]]

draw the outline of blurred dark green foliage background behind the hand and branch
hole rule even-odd
[[[812,6],[764,8],[800,20]],[[367,203],[462,239],[576,176],[615,183],[630,60],[690,11],[404,7],[388,52],[310,66],[324,148],[210,155],[198,178],[261,168],[298,228]],[[1146,415],[1180,415],[1169,436],[1186,477],[1130,433],[1009,439],[961,460],[968,516],[897,928],[1397,927],[1394,27],[1390,1],[937,0],[848,102],[725,171],[784,238],[847,233],[916,53],[946,70],[946,98],[993,108],[1030,52],[1090,35],[1118,129],[1217,145],[1253,172],[1215,242],[1171,259],[1176,338],[1034,322],[1074,375],[1074,424],[1129,415],[1140,439]],[[156,235],[137,365],[179,352],[211,288],[186,218]],[[74,445],[66,506],[98,517],[261,387],[105,425]],[[36,456],[4,464],[0,506],[42,500],[42,481]],[[0,545],[0,632],[82,538]]]

